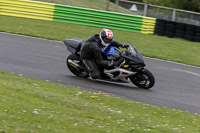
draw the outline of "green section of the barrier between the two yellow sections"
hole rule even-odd
[[[141,32],[142,20],[141,16],[66,5],[55,5],[54,11],[54,21],[132,32]]]

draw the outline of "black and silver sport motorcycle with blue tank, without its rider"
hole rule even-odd
[[[80,49],[84,40],[79,38],[65,39],[64,44],[71,52],[66,60],[69,70],[77,77],[89,78],[87,68],[80,59]],[[103,80],[132,82],[135,86],[144,89],[150,89],[154,86],[153,74],[145,68],[142,54],[132,45],[129,44],[125,51],[113,46],[104,47],[102,48],[102,56],[111,61],[122,60],[119,66],[103,70],[103,74],[106,75]]]

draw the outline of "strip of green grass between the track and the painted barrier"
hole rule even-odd
[[[0,31],[63,41],[66,38],[87,39],[101,28],[76,24],[0,16]],[[156,35],[113,30],[114,39],[130,43],[143,55],[194,66],[200,66],[200,43]]]

